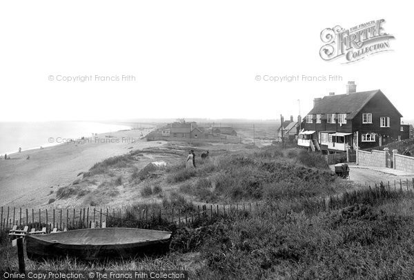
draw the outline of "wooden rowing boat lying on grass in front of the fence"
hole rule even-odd
[[[77,257],[93,261],[126,259],[143,254],[164,254],[171,232],[139,228],[87,228],[26,236],[30,259]]]

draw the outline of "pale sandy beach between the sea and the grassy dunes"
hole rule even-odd
[[[51,191],[68,185],[95,163],[132,148],[160,146],[156,141],[140,139],[151,130],[112,132],[110,137],[99,134],[97,139],[10,154],[10,160],[0,160],[0,206],[46,205]]]

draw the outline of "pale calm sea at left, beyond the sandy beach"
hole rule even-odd
[[[0,122],[0,154],[59,145],[64,139],[130,130],[130,126],[90,121]]]

